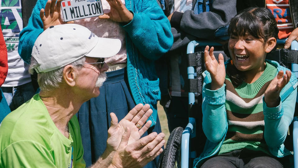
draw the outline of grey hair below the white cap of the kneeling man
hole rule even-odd
[[[72,65],[78,69],[82,69],[83,65],[80,63],[85,63],[85,60],[86,60],[86,57],[84,56],[84,57],[76,60],[75,62],[70,63],[69,65]],[[34,57],[31,57],[31,62],[29,65],[29,73],[30,74],[36,73],[34,68],[37,68],[38,66],[39,66],[39,64],[36,61],[36,59]],[[65,66],[55,69],[55,70],[52,70],[52,71],[49,71],[49,72],[38,73],[37,82],[38,82],[40,90],[51,91],[53,89],[58,88],[60,83],[62,83],[63,69],[65,68]]]

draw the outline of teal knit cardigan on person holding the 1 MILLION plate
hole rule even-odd
[[[20,32],[18,52],[30,63],[31,52],[38,35],[43,32],[39,11],[46,0],[38,0],[28,26]],[[126,31],[127,75],[130,91],[136,104],[149,104],[153,110],[148,120],[156,124],[157,101],[160,100],[159,79],[154,61],[165,54],[173,44],[169,20],[156,0],[125,0],[133,20],[123,26]]]

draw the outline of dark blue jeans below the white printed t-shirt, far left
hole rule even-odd
[[[1,89],[11,111],[16,110],[35,94],[31,82],[20,86],[1,87]]]

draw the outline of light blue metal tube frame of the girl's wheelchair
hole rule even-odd
[[[285,40],[277,40],[278,44],[284,44]],[[194,53],[196,47],[200,46],[221,46],[222,44],[213,41],[191,41],[187,45],[187,54]],[[292,50],[298,50],[298,42],[294,40],[291,44]],[[291,72],[296,74],[298,77],[298,64],[291,65]],[[188,79],[194,79],[195,77],[194,67],[187,67]],[[297,96],[298,98],[298,96]],[[298,99],[296,100],[298,102]],[[195,93],[188,93],[188,104],[193,105],[195,103]],[[189,158],[196,158],[196,152],[189,152],[190,138],[196,137],[196,120],[195,118],[189,118],[189,123],[183,130],[181,139],[181,168],[188,168]],[[205,145],[205,144],[204,144]],[[294,168],[298,168],[298,117],[293,119],[293,151],[294,151]],[[297,152],[297,153],[296,153]],[[295,154],[296,153],[296,154]]]

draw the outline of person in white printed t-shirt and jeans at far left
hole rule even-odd
[[[21,0],[1,1],[0,20],[7,47],[8,73],[1,86],[10,110],[13,111],[31,99],[35,91],[28,72],[28,64],[18,53],[19,34],[23,29]]]

